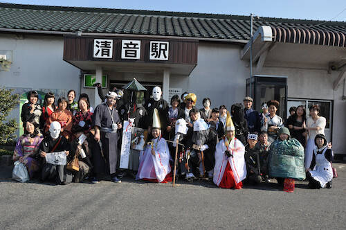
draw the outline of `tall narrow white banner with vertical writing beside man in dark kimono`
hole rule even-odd
[[[129,151],[131,148],[132,125],[129,123],[129,121],[124,121],[124,125],[122,127],[119,168],[129,168]]]

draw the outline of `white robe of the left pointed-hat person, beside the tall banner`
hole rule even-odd
[[[147,145],[140,152],[140,163],[136,179],[157,179],[163,182],[166,175],[171,172],[170,150],[163,138],[152,140],[155,156],[152,155],[152,145]]]

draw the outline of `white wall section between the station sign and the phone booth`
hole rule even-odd
[[[197,107],[204,97],[212,100],[211,107],[242,103],[249,70],[239,60],[240,46],[199,43],[197,67],[190,76],[171,76],[170,87],[182,88],[197,95]]]

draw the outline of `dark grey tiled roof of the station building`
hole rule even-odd
[[[196,39],[232,39],[250,35],[250,17],[188,12],[32,6],[0,3],[0,30],[159,35]],[[346,22],[261,17],[258,26],[313,28],[346,35]]]

